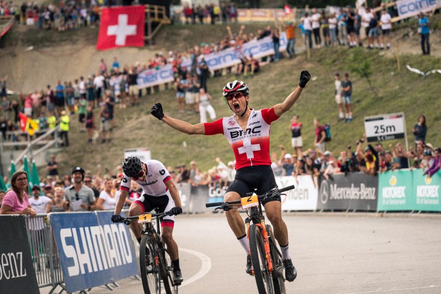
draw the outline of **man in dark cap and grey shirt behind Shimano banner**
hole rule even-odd
[[[64,191],[65,200],[71,211],[91,211],[97,208],[94,191],[83,185],[84,170],[74,167],[72,170],[73,185]]]

